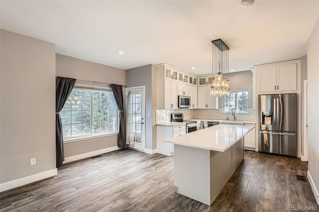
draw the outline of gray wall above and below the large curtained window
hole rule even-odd
[[[56,75],[80,80],[125,85],[125,70],[56,54]],[[117,146],[117,135],[90,138],[64,144],[64,156]]]

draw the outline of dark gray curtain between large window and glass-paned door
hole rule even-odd
[[[123,89],[121,85],[111,84],[110,87],[112,88],[116,104],[120,110],[118,147],[126,148]]]

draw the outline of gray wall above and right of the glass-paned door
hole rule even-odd
[[[145,86],[145,148],[156,149],[156,67],[147,65],[126,70],[126,80],[128,88]]]

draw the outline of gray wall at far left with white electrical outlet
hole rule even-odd
[[[2,184],[56,169],[55,45],[5,30],[0,43]]]

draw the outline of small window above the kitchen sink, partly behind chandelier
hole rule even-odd
[[[231,112],[233,107],[235,112],[248,113],[248,90],[231,91],[228,97],[224,97],[223,112]]]

